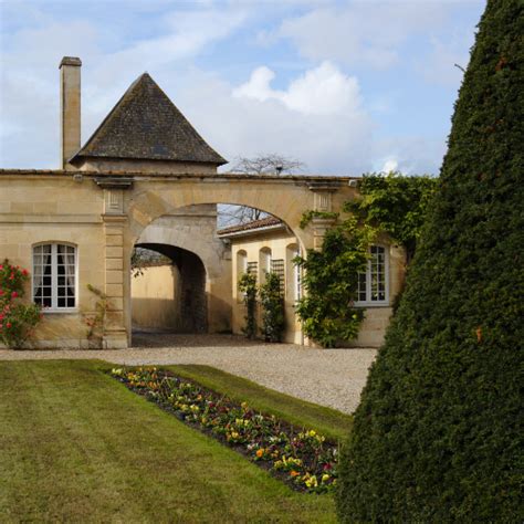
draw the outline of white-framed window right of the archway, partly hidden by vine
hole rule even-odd
[[[389,304],[389,259],[385,245],[371,245],[366,271],[358,273],[355,305]]]

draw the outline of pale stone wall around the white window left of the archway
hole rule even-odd
[[[87,347],[86,315],[96,296],[87,284],[105,290],[103,192],[92,181],[65,176],[0,177],[0,259],[31,273],[32,249],[42,242],[76,245],[77,307],[45,313],[35,333],[35,347]],[[31,300],[31,285],[27,297]]]

